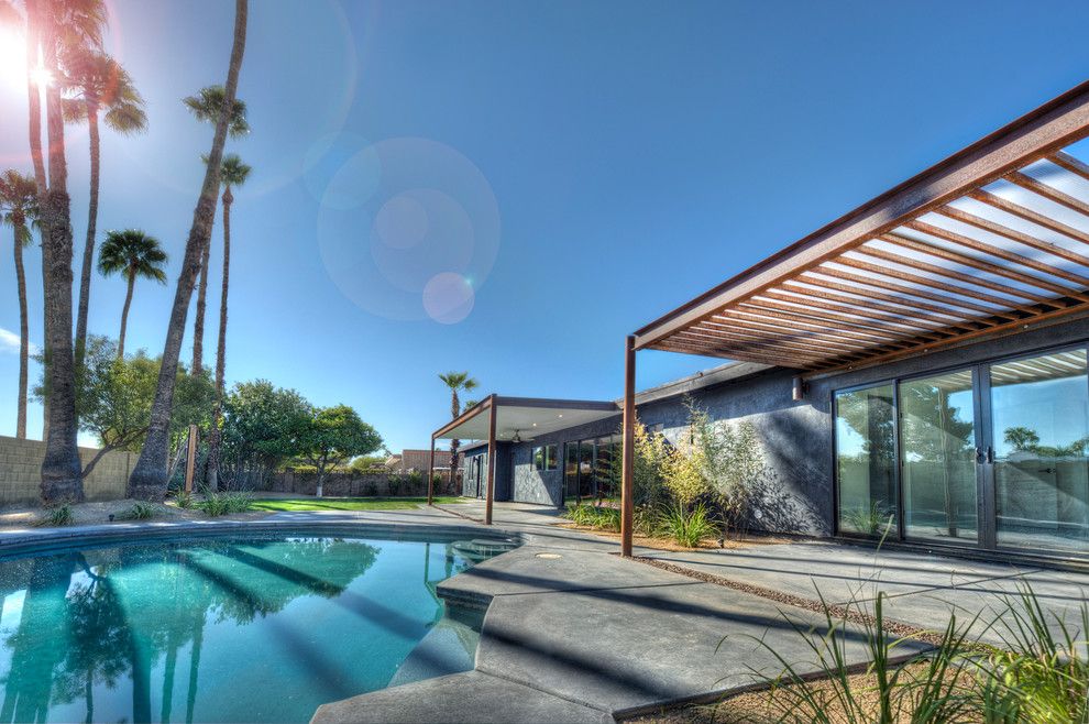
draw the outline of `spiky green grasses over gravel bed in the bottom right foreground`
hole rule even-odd
[[[757,639],[782,666],[768,691],[770,721],[1089,723],[1089,603],[1081,603],[1078,627],[1071,627],[1060,615],[1048,615],[1024,584],[1003,596],[990,621],[977,614],[961,626],[950,615],[939,634],[895,636],[887,628],[884,601],[878,592],[872,607],[856,596],[834,610],[822,597],[820,628],[787,618],[810,652],[806,659],[816,663],[816,678],[795,654],[788,657]],[[1000,645],[985,640],[991,633]],[[869,660],[862,673],[854,666],[861,657],[847,654],[853,638]],[[755,670],[754,676],[765,678]]]

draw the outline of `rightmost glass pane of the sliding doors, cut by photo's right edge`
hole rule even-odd
[[[1089,552],[1086,351],[992,364],[999,546]]]

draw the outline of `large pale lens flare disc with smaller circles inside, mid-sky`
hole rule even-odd
[[[312,168],[328,171],[336,163],[328,156],[343,157],[356,143],[333,140]],[[499,248],[495,194],[469,158],[428,139],[389,139],[359,149],[308,188],[323,189],[321,263],[356,306],[395,320],[450,325],[469,316]]]

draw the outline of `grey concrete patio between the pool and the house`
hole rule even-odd
[[[466,525],[469,502],[440,509],[359,517]],[[495,506],[494,528],[520,534],[521,548],[440,584],[448,602],[486,607],[475,670],[321,706],[315,722],[612,721],[667,703],[751,687],[781,667],[768,641],[800,670],[811,655],[788,617],[821,629],[823,616],[690,575],[615,556],[617,542],[558,527],[546,507]],[[322,514],[324,515],[324,514]],[[354,514],[353,514],[354,515]],[[692,571],[829,603],[890,596],[889,617],[924,629],[1000,606],[996,594],[1028,581],[1049,612],[1071,617],[1089,577],[834,542],[754,545],[733,550],[639,556]],[[847,649],[866,660],[848,634]],[[903,654],[913,650],[904,648]]]

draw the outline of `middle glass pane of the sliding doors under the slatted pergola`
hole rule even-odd
[[[979,539],[971,370],[900,383],[904,535]]]

